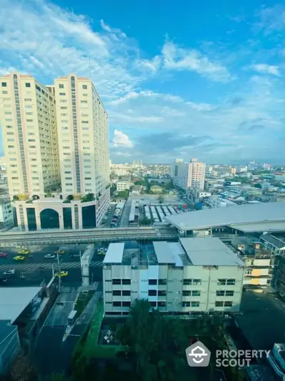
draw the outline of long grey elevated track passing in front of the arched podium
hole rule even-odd
[[[0,247],[15,245],[52,245],[95,243],[116,240],[169,240],[177,237],[176,228],[96,228],[86,230],[38,230],[36,232],[4,232]]]

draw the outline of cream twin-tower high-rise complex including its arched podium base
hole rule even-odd
[[[108,116],[88,78],[1,78],[9,193],[21,230],[95,228],[110,203]],[[16,212],[16,213],[15,213]]]

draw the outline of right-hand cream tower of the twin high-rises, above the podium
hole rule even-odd
[[[108,115],[92,81],[55,80],[61,188],[64,195],[100,197],[109,183]]]

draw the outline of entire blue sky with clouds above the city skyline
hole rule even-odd
[[[43,84],[91,76],[113,162],[284,163],[284,5],[0,0],[0,9],[0,74]]]

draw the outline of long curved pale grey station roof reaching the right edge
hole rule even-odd
[[[165,220],[180,230],[199,230],[219,226],[239,228],[239,225],[263,223],[260,228],[267,231],[270,223],[285,222],[285,203],[257,203],[237,205],[234,208],[212,208],[194,212],[167,215]],[[257,227],[258,228],[258,227]]]

